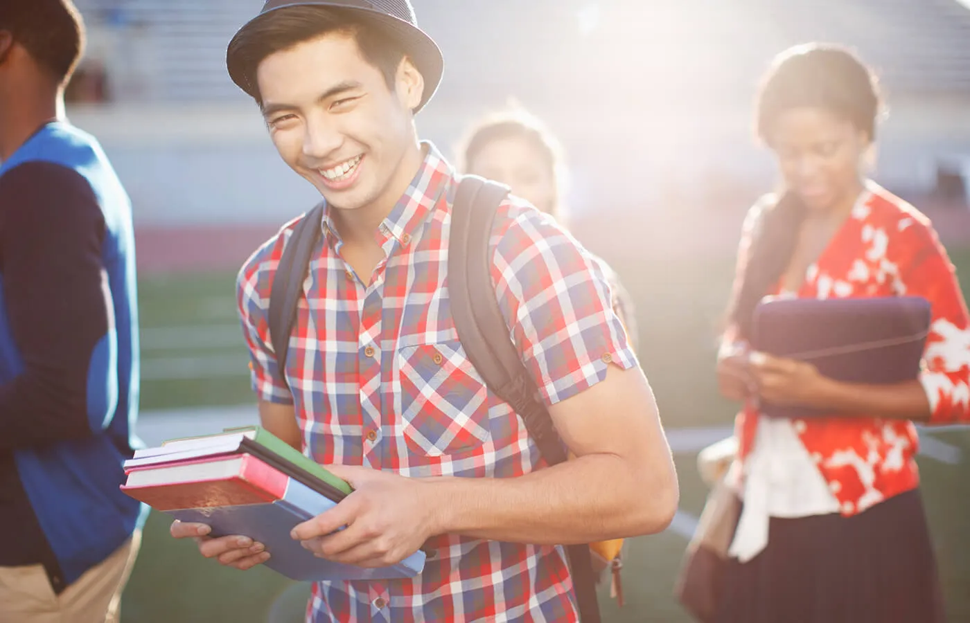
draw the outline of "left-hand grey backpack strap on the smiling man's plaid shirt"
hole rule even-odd
[[[300,219],[283,246],[283,255],[270,288],[270,342],[279,370],[279,379],[286,384],[286,356],[290,347],[290,335],[296,322],[297,305],[307,278],[310,255],[320,237],[324,202],[318,203]]]

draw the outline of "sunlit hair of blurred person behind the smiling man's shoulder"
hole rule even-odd
[[[487,115],[471,127],[458,150],[461,171],[471,171],[471,164],[486,145],[496,140],[526,140],[542,158],[550,176],[558,184],[562,163],[562,147],[542,122],[523,109],[509,108]],[[558,193],[557,193],[558,194]],[[557,216],[558,202],[553,204]]]

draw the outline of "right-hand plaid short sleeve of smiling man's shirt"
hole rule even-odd
[[[556,222],[529,206],[504,205],[494,233],[493,280],[512,339],[547,404],[637,365],[599,263]]]

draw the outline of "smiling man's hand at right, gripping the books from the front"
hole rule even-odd
[[[293,538],[317,556],[358,567],[386,567],[439,534],[436,508],[446,502],[434,499],[433,483],[366,467],[328,465],[327,470],[354,491],[330,511],[293,529]]]

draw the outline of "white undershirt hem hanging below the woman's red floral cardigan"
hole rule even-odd
[[[744,476],[732,479],[744,509],[728,555],[741,562],[768,545],[769,517],[805,517],[839,512],[839,502],[798,438],[804,421],[761,417]],[[733,470],[732,470],[733,471]]]

